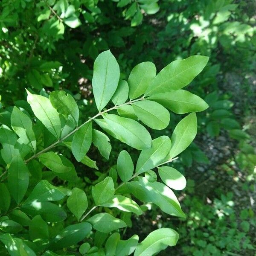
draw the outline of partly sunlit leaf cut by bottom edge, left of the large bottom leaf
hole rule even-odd
[[[128,240],[119,240],[116,246],[116,255],[127,256],[134,252],[139,242],[139,236],[133,235]]]

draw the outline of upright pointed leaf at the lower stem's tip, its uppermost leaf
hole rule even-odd
[[[185,150],[195,139],[197,133],[197,119],[195,112],[184,117],[175,127],[171,141],[172,148],[169,159],[176,157]]]

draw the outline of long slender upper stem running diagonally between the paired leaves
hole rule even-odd
[[[61,139],[57,140],[57,141],[56,141],[55,143],[53,143],[52,145],[49,145],[47,148],[44,148],[43,150],[41,150],[41,151],[39,151],[38,153],[34,154],[32,157],[29,157],[29,158],[25,161],[25,163],[27,163],[27,162],[29,162],[30,160],[32,160],[32,159],[38,157],[39,155],[41,155],[42,153],[48,151],[49,149],[55,147],[58,143],[61,143],[62,141],[66,140],[68,137],[70,137],[70,135],[72,135],[73,133],[75,133],[76,131],[78,131],[83,125],[87,124],[87,122],[92,121],[92,120],[95,119],[96,117],[101,116],[102,114],[107,113],[107,112],[109,112],[109,111],[111,111],[111,110],[120,108],[120,107],[122,107],[122,106],[124,106],[124,105],[132,104],[132,103],[134,103],[134,102],[137,102],[137,101],[140,101],[140,100],[143,100],[143,99],[144,99],[144,97],[141,97],[140,99],[134,99],[134,100],[132,100],[132,101],[130,100],[129,102],[125,102],[124,104],[116,105],[116,106],[114,106],[114,107],[112,107],[112,108],[109,108],[109,109],[107,109],[107,110],[105,110],[105,111],[102,111],[102,112],[97,113],[95,116],[93,116],[93,117],[91,117],[90,119],[88,119],[86,122],[84,122],[83,124],[81,124],[80,126],[78,126],[75,130],[71,131],[71,132],[70,132],[69,134],[67,134],[66,136],[64,136],[64,137],[62,137]]]

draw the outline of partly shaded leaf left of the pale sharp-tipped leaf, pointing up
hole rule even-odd
[[[20,143],[28,144],[35,152],[36,140],[30,118],[14,106],[11,116],[12,129],[20,137]]]

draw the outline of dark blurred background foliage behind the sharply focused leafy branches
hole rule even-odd
[[[129,230],[140,230],[143,239],[157,227],[172,227],[180,240],[161,255],[253,256],[255,25],[254,0],[2,0],[0,123],[8,122],[14,104],[28,109],[25,87],[42,95],[66,90],[84,119],[96,113],[93,62],[107,49],[117,58],[122,79],[142,61],[153,61],[160,71],[175,59],[209,56],[207,67],[189,85],[209,109],[198,114],[198,136],[175,163],[188,179],[179,194],[188,218],[169,218],[148,204],[150,214],[130,221],[124,237]],[[179,118],[171,114],[167,134]],[[87,173],[81,187],[101,180],[116,163],[120,144],[111,144],[108,162],[91,152],[96,163],[88,165],[99,171],[80,166]],[[123,218],[129,222],[131,216]]]

